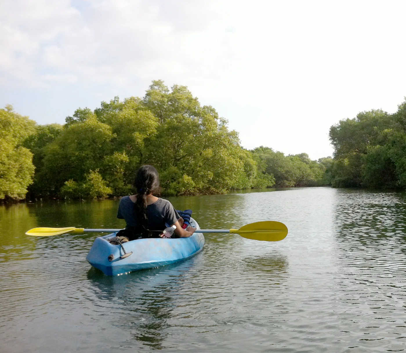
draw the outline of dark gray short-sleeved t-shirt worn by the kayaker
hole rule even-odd
[[[166,227],[175,224],[180,218],[171,202],[163,198],[158,198],[156,202],[147,206],[147,217],[149,230],[164,230]],[[137,226],[134,202],[132,202],[130,196],[121,198],[117,218],[124,219],[127,226]]]

